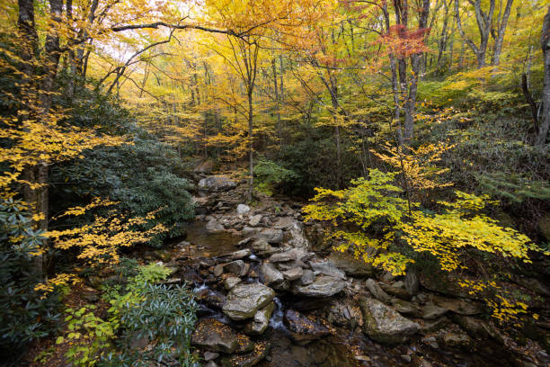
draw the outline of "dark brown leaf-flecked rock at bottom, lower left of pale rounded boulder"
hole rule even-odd
[[[195,327],[191,344],[211,352],[233,353],[239,338],[231,328],[215,318],[203,318]]]

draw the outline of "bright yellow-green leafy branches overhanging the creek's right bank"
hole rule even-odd
[[[420,169],[409,172],[424,177]],[[414,263],[412,251],[430,254],[448,273],[467,272],[467,264],[480,255],[530,263],[529,252],[543,252],[526,235],[483,213],[486,205],[494,203],[487,195],[457,191],[457,200],[439,201],[437,212],[422,209],[418,202],[412,202],[409,211],[400,197],[404,192],[394,184],[398,175],[370,169],[368,178],[351,181],[348,189],[316,189],[314,202],[304,208],[306,219],[326,223],[334,250],[350,251],[395,275],[404,274]],[[425,180],[422,185],[437,186]],[[461,287],[483,296],[493,318],[517,323],[519,315],[527,313],[528,305],[496,282],[458,278]]]

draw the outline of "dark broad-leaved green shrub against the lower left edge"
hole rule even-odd
[[[55,293],[41,299],[34,291],[40,274],[31,254],[43,237],[21,204],[0,202],[0,360],[8,363],[15,363],[31,341],[57,329],[60,306]]]

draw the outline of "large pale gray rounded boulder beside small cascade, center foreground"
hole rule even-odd
[[[238,284],[229,291],[222,310],[229,318],[244,320],[252,318],[274,297],[275,291],[262,283]]]

